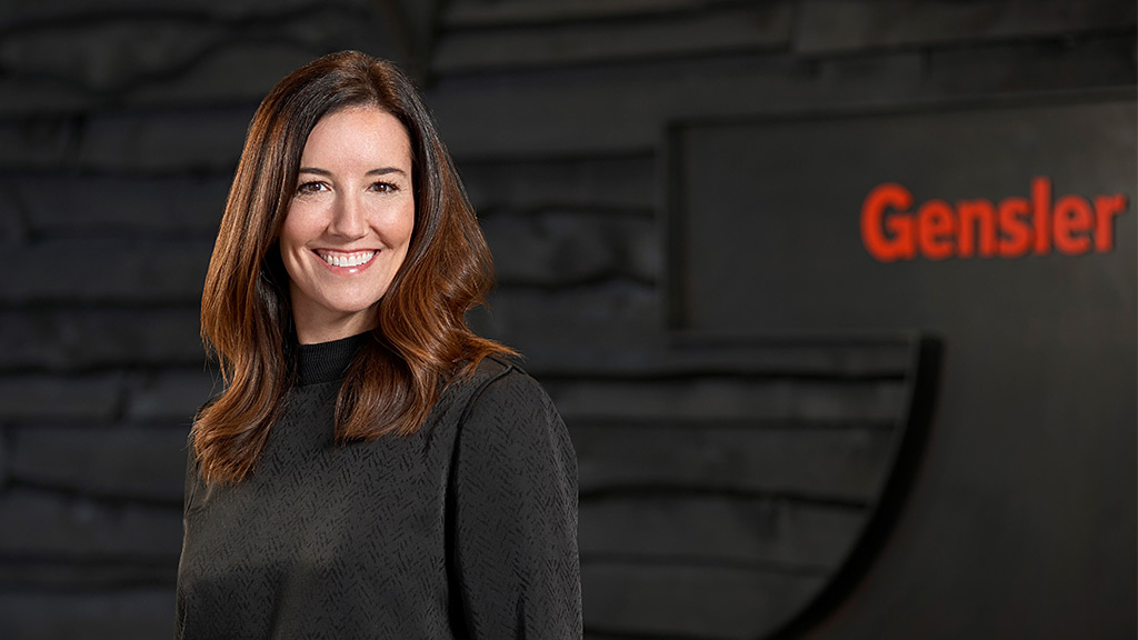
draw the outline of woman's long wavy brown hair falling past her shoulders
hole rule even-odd
[[[513,354],[472,334],[465,312],[493,284],[489,249],[457,172],[415,87],[394,65],[341,51],[290,73],[261,102],[225,203],[201,294],[201,338],[225,389],[193,424],[203,476],[249,473],[295,381],[288,276],[278,238],[300,155],[321,117],[376,106],[411,140],[415,220],[406,259],[378,303],[379,325],[348,368],[336,403],[338,441],[414,433],[439,381],[469,375],[490,354]]]

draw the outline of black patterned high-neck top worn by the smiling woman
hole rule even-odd
[[[187,469],[176,637],[580,638],[577,463],[537,383],[487,359],[414,435],[337,445],[356,336],[299,384],[240,483]]]

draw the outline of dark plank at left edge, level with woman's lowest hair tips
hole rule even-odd
[[[17,482],[182,503],[188,429],[23,425],[10,430],[10,477]]]

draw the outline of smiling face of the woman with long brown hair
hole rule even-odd
[[[316,123],[280,238],[300,344],[376,327],[414,215],[411,142],[395,116],[348,107]]]

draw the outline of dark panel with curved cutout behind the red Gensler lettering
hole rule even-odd
[[[858,582],[852,605],[835,614],[846,596],[826,591],[828,613],[816,605],[784,637],[1132,634],[1136,518],[1119,507],[1133,504],[1138,419],[1132,89],[688,123],[671,140],[674,327],[943,338],[938,428],[890,561]],[[942,199],[956,211],[1030,203],[1040,177],[1053,214],[1067,195],[1121,195],[1111,246],[1094,248],[1099,228],[1077,255],[1054,238],[1036,253],[1033,236],[1020,257],[880,262],[863,244],[863,203],[879,184],[904,186],[913,210]],[[851,564],[864,569],[861,558]],[[996,605],[1008,592],[1021,608]],[[1039,614],[1069,598],[1062,614]]]

